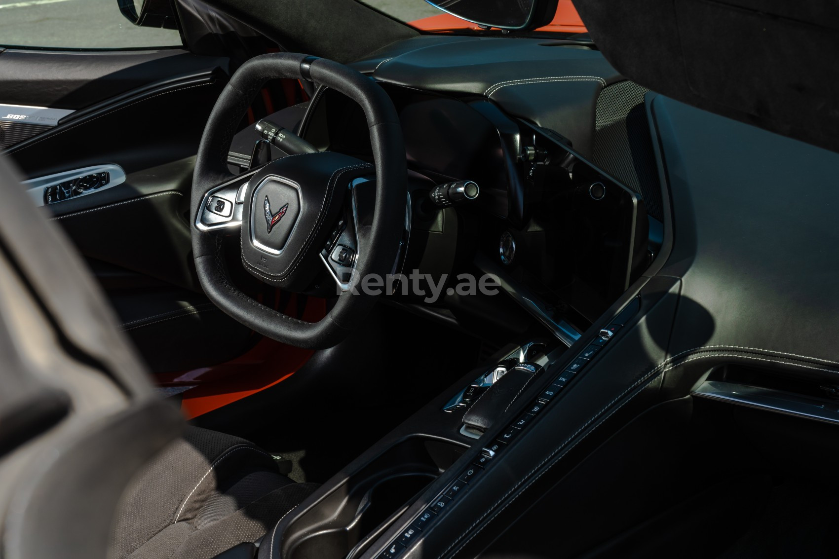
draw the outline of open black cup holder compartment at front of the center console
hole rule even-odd
[[[465,450],[420,436],[393,445],[294,520],[284,532],[282,556],[361,556]]]

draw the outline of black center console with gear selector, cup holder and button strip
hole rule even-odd
[[[281,520],[275,530],[279,543],[274,544],[274,556],[402,556],[423,530],[445,518],[456,499],[492,468],[510,443],[568,389],[576,375],[637,311],[638,300],[633,300],[611,323],[602,325],[595,339],[576,355],[568,355],[561,343],[541,340],[504,347]],[[567,366],[555,372],[554,365],[559,361]],[[498,413],[492,429],[485,430],[498,432],[498,436],[478,444],[476,439],[483,434],[465,426],[464,418],[482,399],[491,397],[492,390],[498,389],[516,368],[533,370],[522,386],[508,393],[513,397]],[[447,482],[437,483],[442,477]],[[393,531],[397,522],[404,529],[382,548],[383,536]],[[271,545],[270,535],[263,545]]]

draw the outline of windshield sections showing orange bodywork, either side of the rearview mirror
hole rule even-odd
[[[367,6],[387,13],[391,18],[409,24],[423,31],[447,31],[451,29],[476,29],[464,19],[442,12],[424,0],[357,0]],[[559,0],[553,21],[545,27],[536,29],[541,32],[586,33],[580,16],[571,0]]]

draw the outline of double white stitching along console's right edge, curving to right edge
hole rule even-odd
[[[684,351],[684,352],[677,353],[676,355],[674,355],[674,356],[672,356],[672,357],[670,357],[670,358],[664,359],[664,361],[662,361],[661,363],[659,363],[659,365],[657,365],[655,368],[651,369],[651,370],[649,371],[649,373],[648,373],[648,374],[645,374],[645,375],[644,375],[644,376],[642,376],[640,379],[638,379],[637,381],[635,381],[632,385],[630,385],[630,386],[628,387],[628,389],[624,390],[621,394],[619,394],[619,395],[618,395],[618,397],[616,397],[616,398],[615,398],[615,399],[613,399],[611,402],[609,402],[607,405],[605,405],[605,406],[602,408],[602,410],[600,410],[600,411],[598,411],[598,412],[597,412],[597,414],[592,415],[592,416],[591,416],[591,419],[589,419],[588,421],[586,421],[586,423],[585,423],[585,424],[583,424],[583,425],[582,425],[579,429],[577,429],[576,431],[574,431],[574,433],[573,433],[571,436],[569,436],[568,438],[566,438],[566,439],[565,439],[565,441],[562,441],[562,442],[560,443],[560,446],[559,446],[559,447],[556,447],[556,448],[555,448],[555,450],[554,450],[553,452],[551,452],[551,453],[550,453],[547,457],[545,457],[545,459],[544,459],[542,462],[539,462],[539,464],[538,464],[535,468],[533,468],[532,470],[530,470],[530,471],[529,471],[529,473],[525,474],[525,475],[524,475],[524,478],[522,478],[522,479],[521,479],[518,483],[516,483],[515,485],[513,485],[513,487],[512,487],[512,488],[510,488],[510,489],[509,489],[509,491],[508,491],[506,494],[504,494],[504,495],[503,495],[503,497],[502,497],[501,499],[498,499],[498,501],[496,501],[494,504],[492,504],[492,506],[490,506],[490,507],[487,509],[487,511],[486,511],[483,515],[481,515],[481,517],[480,517],[480,518],[478,518],[475,522],[473,522],[473,523],[472,523],[472,525],[470,525],[468,528],[466,528],[466,530],[464,530],[464,531],[461,533],[461,535],[460,535],[460,536],[458,536],[458,537],[457,537],[457,539],[456,539],[455,541],[453,541],[453,542],[451,543],[451,545],[450,545],[450,546],[448,546],[448,547],[446,548],[446,550],[445,550],[445,551],[443,551],[443,552],[440,554],[440,556],[439,556],[439,557],[445,556],[445,555],[446,555],[446,553],[448,553],[448,552],[451,550],[451,548],[452,548],[452,547],[454,547],[454,546],[456,546],[456,545],[457,545],[457,542],[458,542],[458,541],[460,541],[460,540],[461,540],[461,538],[462,538],[464,535],[468,534],[468,533],[469,533],[469,532],[470,532],[470,531],[471,531],[471,530],[472,530],[475,526],[477,526],[478,524],[480,524],[480,523],[482,522],[482,520],[484,520],[484,519],[487,517],[487,515],[488,515],[488,514],[490,514],[490,512],[492,511],[492,509],[494,509],[495,507],[497,507],[497,506],[498,506],[498,504],[499,504],[499,503],[501,503],[501,502],[503,502],[503,500],[504,500],[504,499],[507,499],[507,498],[508,498],[508,496],[509,496],[510,494],[513,494],[513,492],[515,492],[515,491],[519,488],[519,486],[521,486],[521,484],[522,484],[522,483],[524,483],[525,481],[528,481],[528,478],[530,478],[530,476],[532,476],[532,475],[533,475],[533,474],[534,474],[537,470],[539,470],[539,468],[542,468],[542,467],[543,467],[543,466],[544,466],[547,462],[549,462],[551,459],[553,459],[554,457],[556,457],[555,461],[554,461],[554,462],[551,462],[551,464],[550,464],[550,466],[549,466],[548,468],[545,468],[545,470],[543,470],[541,473],[537,474],[537,475],[536,475],[536,476],[534,476],[533,478],[530,478],[530,479],[529,479],[529,481],[528,481],[528,483],[526,483],[526,484],[524,485],[524,487],[521,489],[521,491],[519,492],[519,494],[515,495],[515,496],[513,497],[513,499],[510,499],[510,500],[508,501],[508,503],[506,503],[506,504],[504,504],[504,505],[503,505],[503,507],[501,507],[500,509],[496,510],[496,511],[495,511],[495,513],[494,513],[492,516],[490,516],[490,517],[489,517],[489,519],[487,520],[487,522],[486,522],[486,523],[485,523],[485,524],[484,524],[481,528],[479,528],[478,530],[476,530],[476,531],[475,531],[475,533],[474,533],[474,534],[472,534],[472,535],[471,535],[468,539],[466,539],[466,541],[464,541],[464,542],[461,544],[461,546],[459,546],[459,547],[458,547],[458,548],[457,548],[457,549],[456,549],[456,550],[452,553],[452,555],[454,555],[454,554],[456,554],[457,552],[461,551],[461,549],[463,549],[463,547],[465,547],[465,546],[466,546],[466,544],[468,544],[470,541],[472,541],[472,539],[473,539],[476,535],[478,535],[478,534],[481,532],[481,530],[483,530],[483,529],[484,529],[484,528],[485,528],[485,527],[489,524],[489,522],[491,522],[491,521],[492,521],[492,519],[494,519],[496,516],[498,516],[499,514],[501,514],[501,513],[503,512],[503,510],[504,510],[504,509],[506,509],[506,508],[508,507],[508,505],[509,505],[509,504],[513,503],[513,501],[514,501],[515,499],[517,499],[517,498],[519,497],[519,495],[520,495],[520,494],[524,493],[524,490],[526,490],[527,488],[529,488],[529,486],[530,486],[531,484],[533,484],[536,480],[538,480],[538,479],[539,479],[539,478],[540,478],[540,477],[541,477],[544,473],[548,472],[548,471],[550,470],[550,468],[551,468],[551,467],[553,467],[553,465],[554,465],[556,462],[559,462],[559,461],[560,461],[560,459],[561,459],[562,457],[564,457],[564,456],[565,456],[568,452],[570,452],[570,451],[571,451],[571,449],[573,449],[574,447],[576,447],[576,445],[577,445],[577,444],[579,444],[579,443],[580,443],[583,439],[585,439],[585,438],[586,438],[586,436],[588,436],[589,434],[591,434],[591,432],[593,432],[593,431],[594,431],[594,429],[591,429],[591,431],[588,431],[586,434],[584,434],[583,436],[581,436],[579,440],[574,441],[574,443],[571,445],[571,447],[568,447],[568,448],[565,450],[565,452],[564,452],[564,453],[560,454],[560,456],[558,456],[558,457],[557,457],[557,456],[556,456],[556,454],[557,454],[558,452],[560,452],[560,451],[561,451],[561,450],[565,447],[565,445],[566,445],[566,444],[568,444],[569,442],[571,442],[571,440],[573,440],[573,439],[574,439],[574,437],[576,437],[577,435],[579,435],[579,434],[581,433],[581,431],[584,431],[584,430],[585,430],[588,426],[590,426],[590,425],[591,425],[594,421],[597,421],[597,418],[598,418],[598,417],[599,417],[599,416],[600,416],[600,415],[601,415],[604,411],[608,410],[608,409],[609,409],[609,408],[610,408],[610,407],[611,407],[611,406],[612,406],[615,402],[617,402],[618,400],[621,400],[621,399],[623,398],[623,396],[625,396],[626,394],[628,394],[629,392],[631,392],[633,389],[638,388],[638,386],[639,386],[640,384],[644,384],[644,383],[648,383],[648,384],[649,384],[649,382],[652,382],[652,381],[653,381],[653,379],[655,379],[655,378],[657,378],[657,377],[659,376],[659,374],[664,374],[664,373],[666,373],[667,371],[672,370],[673,368],[679,367],[680,365],[684,365],[685,363],[690,363],[691,361],[696,361],[696,360],[698,360],[698,359],[702,359],[702,358],[712,358],[712,357],[746,358],[746,359],[753,359],[753,360],[757,360],[757,361],[766,361],[766,362],[771,362],[771,363],[781,363],[781,364],[784,364],[784,365],[793,365],[793,366],[795,366],[795,367],[812,368],[812,369],[816,369],[816,370],[820,370],[820,371],[826,371],[826,372],[828,372],[828,373],[835,373],[835,374],[839,374],[839,372],[837,372],[837,371],[833,371],[833,370],[831,370],[831,369],[827,369],[827,368],[811,367],[811,366],[808,366],[808,365],[802,365],[802,364],[800,364],[800,363],[786,363],[786,362],[784,362],[784,361],[778,361],[778,360],[775,360],[775,359],[755,358],[755,357],[750,357],[750,356],[747,356],[747,355],[737,355],[737,354],[733,354],[733,353],[731,353],[731,354],[700,355],[700,356],[696,356],[696,357],[694,357],[694,358],[685,359],[685,361],[682,361],[681,363],[677,363],[677,364],[675,364],[675,365],[673,365],[673,366],[671,366],[671,367],[669,367],[669,368],[666,368],[666,369],[662,370],[662,369],[663,369],[663,368],[664,368],[664,367],[665,367],[668,363],[672,363],[673,361],[675,361],[675,359],[678,359],[678,358],[680,358],[681,356],[684,356],[684,355],[685,355],[685,354],[687,354],[687,353],[696,352],[696,351],[711,351],[711,350],[713,350],[714,348],[717,348],[717,347],[737,348],[737,347],[739,347],[739,346],[722,346],[722,345],[718,345],[718,346],[701,346],[701,347],[695,347],[695,348],[693,348],[693,349],[688,349],[688,350],[686,350],[686,351]],[[773,351],[773,350],[769,350],[769,349],[758,349],[758,348],[755,348],[755,347],[743,347],[743,349],[748,349],[748,350],[751,350],[751,351],[758,351],[758,352],[766,352],[766,353],[779,353],[779,354],[789,355],[789,356],[794,356],[794,357],[799,357],[799,358],[813,359],[813,360],[815,360],[815,361],[822,361],[822,362],[826,362],[826,363],[836,363],[836,362],[833,362],[833,361],[827,361],[826,359],[810,358],[810,357],[806,357],[806,356],[803,356],[803,355],[796,355],[795,353],[777,352],[777,351]],[[839,363],[836,363],[836,364],[839,364]],[[601,419],[600,421],[597,421],[597,426],[599,426],[599,425],[600,425],[600,424],[602,424],[604,421],[606,421],[606,420],[607,420],[609,417],[611,417],[614,413],[616,413],[618,410],[620,410],[620,409],[621,409],[624,405],[627,405],[627,404],[628,404],[628,402],[629,402],[629,401],[631,401],[631,400],[632,400],[635,396],[637,396],[638,394],[640,394],[640,390],[639,390],[638,392],[636,392],[636,394],[633,394],[632,396],[630,396],[630,397],[629,397],[626,401],[624,401],[621,405],[618,405],[618,407],[616,407],[614,410],[610,411],[610,412],[609,412],[606,416],[602,417],[602,419]],[[595,426],[595,427],[597,427],[597,426]],[[438,559],[439,559],[439,558],[438,558]]]

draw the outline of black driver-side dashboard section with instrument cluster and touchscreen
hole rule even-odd
[[[567,138],[484,97],[382,86],[399,113],[409,163],[414,222],[406,269],[426,271],[421,264],[434,259],[425,253],[434,251],[438,264],[451,253],[432,271],[495,274],[514,300],[573,342],[649,264],[643,197]],[[300,135],[318,149],[373,159],[361,107],[337,91],[315,93]],[[457,206],[456,217],[449,212],[446,227],[436,215],[445,211],[427,197],[453,180],[477,182],[480,196]]]

